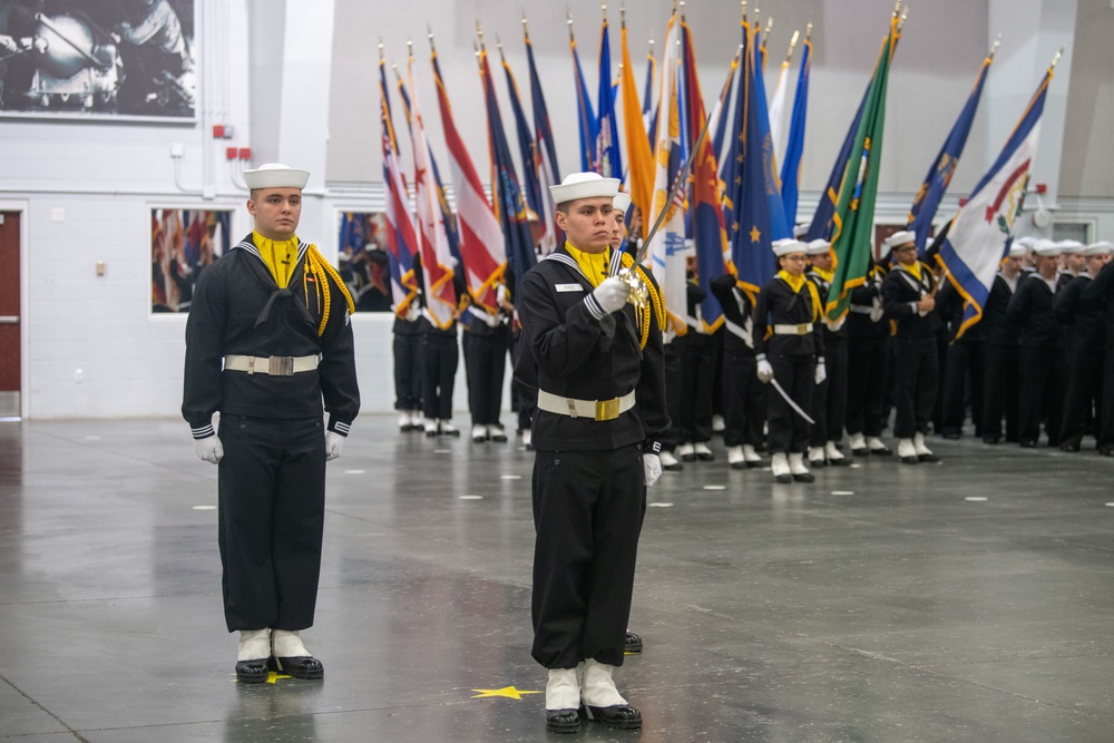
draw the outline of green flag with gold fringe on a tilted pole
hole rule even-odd
[[[859,129],[851,146],[852,157],[836,202],[832,252],[834,276],[828,292],[824,314],[838,322],[848,312],[850,292],[863,283],[873,245],[874,198],[878,195],[878,169],[882,159],[882,130],[886,127],[886,88],[890,77],[890,60],[900,36],[899,21],[890,21],[890,32],[874,66],[874,76],[867,91]],[[856,158],[853,154],[858,153]]]

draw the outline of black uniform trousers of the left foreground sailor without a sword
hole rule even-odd
[[[313,625],[325,512],[321,417],[221,417],[218,534],[228,632]]]

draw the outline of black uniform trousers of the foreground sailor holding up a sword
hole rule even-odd
[[[534,460],[534,659],[623,665],[638,535],[642,444],[538,451]]]

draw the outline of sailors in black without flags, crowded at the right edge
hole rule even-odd
[[[1024,237],[1001,262],[974,324],[948,349],[942,433],[1079,451],[1085,436],[1114,456],[1114,246]],[[946,313],[959,324],[962,301]],[[964,390],[968,391],[965,395]],[[969,400],[965,402],[965,397]],[[1005,418],[1005,429],[1003,429]]]

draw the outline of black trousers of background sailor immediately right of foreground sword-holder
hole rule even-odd
[[[712,399],[715,388],[715,338],[697,333],[692,327],[670,345],[677,356],[677,387],[668,387],[668,397],[676,393],[677,407],[670,409],[670,420],[678,442],[707,441],[712,438]],[[674,418],[674,413],[676,418]]]

